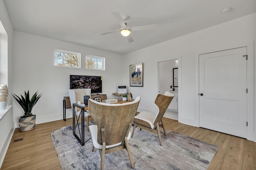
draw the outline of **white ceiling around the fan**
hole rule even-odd
[[[125,54],[256,12],[256,0],[4,0],[14,30]],[[230,13],[222,13],[231,7]],[[128,15],[129,43],[110,12]],[[246,26],[246,25],[245,25]]]

